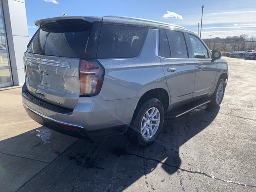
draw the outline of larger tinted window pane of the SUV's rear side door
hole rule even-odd
[[[188,58],[185,38],[182,32],[166,30],[172,58]]]

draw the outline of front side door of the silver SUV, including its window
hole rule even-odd
[[[208,95],[214,91],[216,63],[211,62],[210,52],[197,36],[188,34],[192,58],[196,64],[196,80],[193,97]]]

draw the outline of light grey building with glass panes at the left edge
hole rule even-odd
[[[24,83],[28,42],[24,0],[0,0],[0,88]]]

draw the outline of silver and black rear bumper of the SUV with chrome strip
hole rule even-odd
[[[132,120],[137,98],[105,101],[100,96],[79,98],[74,110],[59,111],[26,96],[22,87],[22,102],[30,118],[52,130],[78,138],[98,138],[126,132]],[[34,98],[36,100],[36,98]],[[44,101],[42,101],[44,102]],[[71,126],[69,130],[59,126]]]

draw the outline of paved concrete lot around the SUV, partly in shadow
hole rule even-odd
[[[226,57],[224,57],[226,58]],[[256,191],[256,61],[226,58],[220,108],[166,120],[140,148],[123,135],[82,140],[26,115],[21,88],[0,91],[0,191]]]

